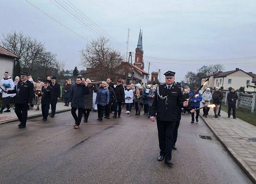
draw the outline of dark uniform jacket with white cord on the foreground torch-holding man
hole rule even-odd
[[[165,99],[158,97],[157,90],[162,97],[167,96]],[[156,88],[154,101],[151,107],[151,116],[155,116],[159,121],[177,121],[178,113],[177,109],[183,107],[183,98],[180,88],[173,85],[171,89],[167,89],[167,86],[160,85]]]

